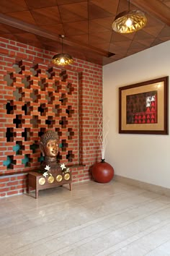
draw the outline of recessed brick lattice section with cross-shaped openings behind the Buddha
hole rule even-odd
[[[40,167],[40,136],[53,129],[60,138],[58,161],[79,163],[78,73],[30,61],[6,68],[0,110],[0,174]]]

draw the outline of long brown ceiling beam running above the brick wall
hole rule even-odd
[[[55,42],[56,41],[61,42],[60,35],[55,35],[53,33],[49,33],[48,30],[42,30],[40,27],[28,24],[26,22],[22,22],[21,20],[17,20],[15,18],[9,17],[5,14],[0,14],[0,22],[5,25],[9,25],[11,27],[17,27],[19,30],[24,30],[24,31],[27,31],[28,33],[40,35],[44,38],[54,40]],[[68,46],[83,48],[89,52],[94,52],[96,54],[99,54],[100,56],[105,56],[107,58],[115,55],[111,52],[104,51],[104,50],[96,48],[94,46],[89,46],[88,44],[85,44],[85,43],[80,43],[79,41],[76,41],[76,40],[68,40],[66,38],[63,38],[63,43],[65,43]]]

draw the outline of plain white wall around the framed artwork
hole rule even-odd
[[[170,41],[104,66],[103,76],[104,120],[109,119],[105,161],[117,175],[170,188],[170,135],[118,133],[118,88],[164,76],[170,80]]]

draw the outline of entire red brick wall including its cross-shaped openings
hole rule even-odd
[[[26,192],[48,129],[58,133],[58,161],[71,166],[73,182],[91,179],[90,168],[101,158],[102,66],[74,59],[58,67],[54,54],[0,38],[0,197]]]

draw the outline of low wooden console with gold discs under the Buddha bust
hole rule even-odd
[[[37,198],[39,190],[63,186],[63,184],[69,184],[71,191],[71,182],[71,172],[44,177],[42,174],[32,171],[28,174],[27,193],[30,194],[31,188],[35,189],[35,198]]]

